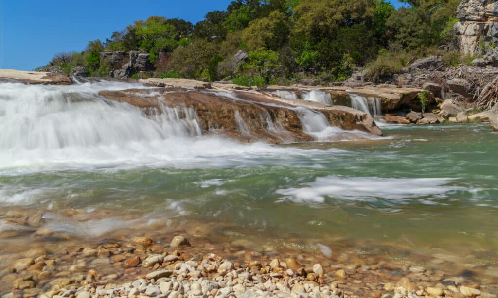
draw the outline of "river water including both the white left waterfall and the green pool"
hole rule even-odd
[[[498,266],[486,254],[498,249],[498,135],[487,124],[386,126],[385,138],[362,142],[238,144],[200,137],[195,115],[146,118],[92,102],[95,86],[84,85],[74,88],[90,104],[60,105],[53,88],[29,112],[32,103],[14,105],[19,97],[2,84],[1,105],[2,207],[44,210],[51,229],[91,239],[180,219],[255,247],[444,249]],[[69,209],[88,216],[61,215]],[[102,218],[104,210],[113,213]]]

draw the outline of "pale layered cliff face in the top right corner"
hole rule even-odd
[[[498,1],[462,0],[453,29],[463,53],[479,54],[480,42],[498,45]]]

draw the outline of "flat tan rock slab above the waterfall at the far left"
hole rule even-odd
[[[18,81],[25,84],[71,85],[73,80],[67,74],[47,72],[24,72],[0,70],[2,81]]]

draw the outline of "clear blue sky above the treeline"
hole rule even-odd
[[[0,68],[31,71],[150,15],[192,23],[231,0],[1,0]],[[398,7],[396,0],[389,1]]]

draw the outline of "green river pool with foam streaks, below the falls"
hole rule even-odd
[[[256,244],[344,239],[456,254],[497,250],[498,135],[487,125],[383,132],[383,140],[274,146],[211,163],[197,156],[174,165],[11,170],[2,175],[2,204],[49,214],[109,209],[155,221],[180,218]],[[47,217],[52,228],[57,220]],[[111,220],[93,234],[123,223]],[[88,236],[71,225],[59,228]]]

